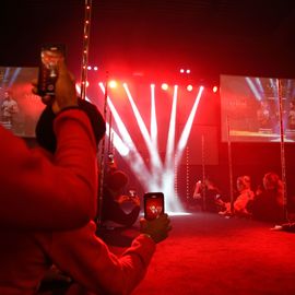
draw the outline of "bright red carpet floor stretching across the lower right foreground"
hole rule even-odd
[[[295,234],[209,213],[172,223],[133,294],[295,294]],[[135,231],[116,231],[104,236],[119,253]]]

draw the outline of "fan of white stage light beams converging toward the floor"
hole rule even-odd
[[[104,85],[99,83],[99,86],[103,92]],[[182,130],[180,139],[177,143],[177,148],[175,149],[175,127],[176,127],[176,108],[177,108],[177,94],[178,94],[178,86],[175,85],[174,93],[173,93],[173,104],[172,104],[172,111],[170,111],[170,120],[168,127],[168,137],[166,143],[166,157],[165,161],[162,163],[160,157],[160,152],[157,148],[157,123],[156,123],[156,104],[155,104],[155,85],[151,85],[151,128],[150,133],[148,128],[141,117],[141,114],[135,105],[135,102],[128,88],[128,85],[125,83],[123,88],[130,102],[131,108],[134,114],[134,118],[138,122],[138,127],[143,135],[144,142],[146,144],[148,151],[150,153],[150,162],[145,164],[142,156],[138,152],[134,143],[129,134],[126,126],[122,122],[118,111],[116,110],[113,102],[109,97],[108,105],[114,116],[115,122],[121,135],[121,141],[129,149],[129,153],[126,154],[125,158],[127,163],[130,164],[130,168],[137,175],[140,182],[142,184],[145,190],[150,191],[163,191],[165,194],[165,206],[167,212],[181,212],[182,206],[178,199],[178,196],[175,190],[175,170],[179,165],[179,160],[181,157],[181,153],[187,144],[187,140],[189,133],[191,131],[193,118],[196,116],[198,105],[201,98],[201,94],[203,92],[203,87],[199,88],[197,94],[194,104],[192,109],[189,114],[188,120],[186,126]],[[117,149],[117,148],[116,148]],[[150,170],[148,168],[150,165]]]

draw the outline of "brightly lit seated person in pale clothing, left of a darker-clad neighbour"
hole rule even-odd
[[[251,179],[249,176],[244,175],[237,178],[238,197],[234,201],[234,212],[231,210],[231,203],[224,203],[224,211],[220,212],[222,215],[235,214],[238,216],[250,216],[247,205],[255,197],[251,190]]]

